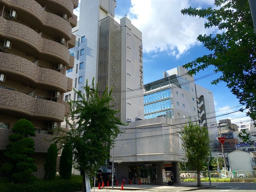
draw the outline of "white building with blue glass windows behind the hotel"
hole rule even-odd
[[[194,83],[194,77],[178,66],[164,72],[164,78],[144,85],[144,118],[169,117],[184,126],[188,121],[208,128],[216,143],[217,126],[213,94]]]

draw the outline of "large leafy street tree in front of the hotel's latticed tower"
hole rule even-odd
[[[110,101],[113,100],[112,88],[108,87],[99,92],[98,84],[83,86],[85,94],[74,89],[80,100],[71,100],[70,121],[66,120],[70,130],[64,135],[55,136],[54,139],[63,145],[70,143],[73,149],[73,166],[83,176],[83,189],[85,191],[85,174],[94,175],[100,166],[105,165],[110,157],[109,150],[121,133],[119,125],[125,125],[116,116],[118,111],[113,109]],[[74,109],[74,110],[73,110]]]

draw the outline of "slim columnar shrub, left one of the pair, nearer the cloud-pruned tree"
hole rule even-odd
[[[52,143],[48,148],[45,163],[44,163],[44,179],[54,180],[56,177],[58,148],[56,144]]]

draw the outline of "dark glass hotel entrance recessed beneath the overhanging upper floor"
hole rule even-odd
[[[156,164],[129,165],[129,179],[137,177],[141,184],[156,184]]]

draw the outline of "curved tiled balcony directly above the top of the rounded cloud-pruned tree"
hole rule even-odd
[[[0,109],[42,118],[64,121],[65,106],[49,100],[35,99],[24,93],[0,89]]]

